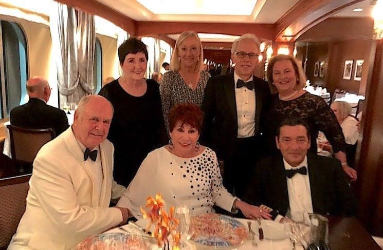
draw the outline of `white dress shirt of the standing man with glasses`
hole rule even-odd
[[[236,82],[241,79],[234,71],[234,89],[236,114],[238,119],[238,138],[246,138],[254,136],[256,131],[256,91],[249,90],[247,87],[236,88]],[[244,81],[243,79],[241,79]],[[246,82],[253,80],[250,79]],[[244,81],[245,82],[245,81]]]

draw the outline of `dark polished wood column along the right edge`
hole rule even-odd
[[[376,43],[366,103],[357,169],[357,217],[371,234],[383,237],[383,39]]]

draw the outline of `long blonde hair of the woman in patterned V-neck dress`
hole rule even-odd
[[[181,43],[183,43],[186,39],[189,37],[194,37],[198,43],[199,43],[199,58],[197,60],[197,63],[195,64],[194,71],[200,72],[202,70],[203,64],[204,64],[204,50],[202,48],[201,40],[199,39],[197,33],[194,31],[184,31],[180,34],[180,36],[177,39],[177,42],[175,43],[175,47],[172,54],[172,59],[170,60],[170,70],[178,70],[181,67],[181,62],[179,61],[179,53],[178,49]]]

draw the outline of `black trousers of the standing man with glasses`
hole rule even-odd
[[[260,137],[237,138],[229,151],[224,157],[223,184],[232,195],[242,199],[254,167],[262,157],[262,140]]]

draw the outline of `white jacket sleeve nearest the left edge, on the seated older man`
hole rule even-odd
[[[121,223],[122,214],[117,208],[80,205],[67,169],[52,162],[39,153],[33,162],[30,183],[41,208],[54,224],[65,233],[89,236]]]

